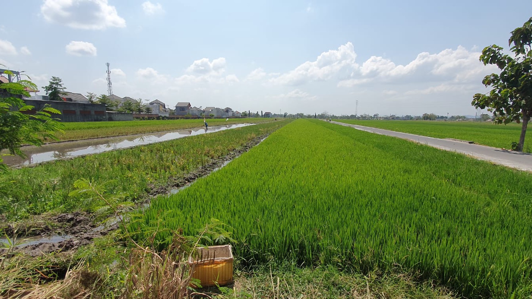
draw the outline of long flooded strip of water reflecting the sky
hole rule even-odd
[[[45,144],[42,147],[23,147],[22,151],[28,158],[22,159],[14,156],[3,156],[4,163],[13,165],[29,165],[57,159],[65,159],[99,153],[115,149],[142,146],[161,141],[179,139],[186,136],[201,135],[205,133],[218,132],[252,124],[231,124],[223,126],[212,126],[208,130],[204,128],[179,130],[172,132],[156,132],[129,136],[117,136],[109,138],[98,138],[89,140],[69,141],[61,143]]]

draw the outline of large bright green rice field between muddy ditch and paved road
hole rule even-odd
[[[217,218],[249,266],[418,273],[468,297],[521,298],[532,294],[531,191],[529,173],[300,119],[152,201],[130,230],[194,235]]]

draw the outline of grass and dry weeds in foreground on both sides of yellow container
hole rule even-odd
[[[31,298],[130,298],[125,293],[126,286],[130,284],[124,283],[124,280],[129,277],[131,281],[133,276],[142,278],[147,271],[153,271],[159,266],[159,259],[152,260],[151,252],[144,252],[144,260],[149,267],[139,271],[139,267],[135,267],[135,262],[139,261],[132,259],[135,255],[131,254],[135,248],[124,243],[121,232],[114,231],[76,252],[37,258],[14,255],[0,265],[0,294],[9,297],[6,296],[7,292],[24,290],[36,291],[34,294],[40,295],[29,296]],[[149,245],[147,247],[149,249]],[[138,251],[138,247],[136,250]],[[186,260],[179,262],[181,265],[187,264]],[[64,278],[68,270],[71,272]],[[166,274],[144,280],[145,285],[149,284],[151,288],[143,288],[140,283],[135,288],[135,298],[148,297],[146,291],[156,290],[164,283],[175,284],[176,281],[169,281],[167,278],[168,272]],[[435,287],[430,281],[417,283],[414,277],[404,274],[348,274],[334,267],[298,268],[293,264],[273,262],[253,271],[246,271],[238,267],[238,260],[232,285],[197,291],[209,296],[198,295],[191,298],[455,298],[445,288]]]

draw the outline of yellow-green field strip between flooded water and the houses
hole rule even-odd
[[[230,118],[207,119],[210,126],[236,124],[236,123],[262,123],[269,122],[271,118]],[[57,134],[61,141],[82,140],[89,138],[120,136],[130,134],[143,134],[161,131],[188,129],[203,126],[203,119],[166,119],[151,121],[124,121],[124,122],[74,122],[64,123],[64,134]]]

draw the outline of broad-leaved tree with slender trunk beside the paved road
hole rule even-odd
[[[532,117],[532,18],[511,32],[508,45],[512,44],[510,51],[514,57],[504,54],[503,48],[497,45],[484,48],[479,60],[484,65],[496,65],[501,73],[484,77],[482,83],[492,90],[489,94],[477,93],[471,105],[481,109],[488,107],[496,124],[522,121],[519,142],[512,143],[514,150],[522,151]]]

